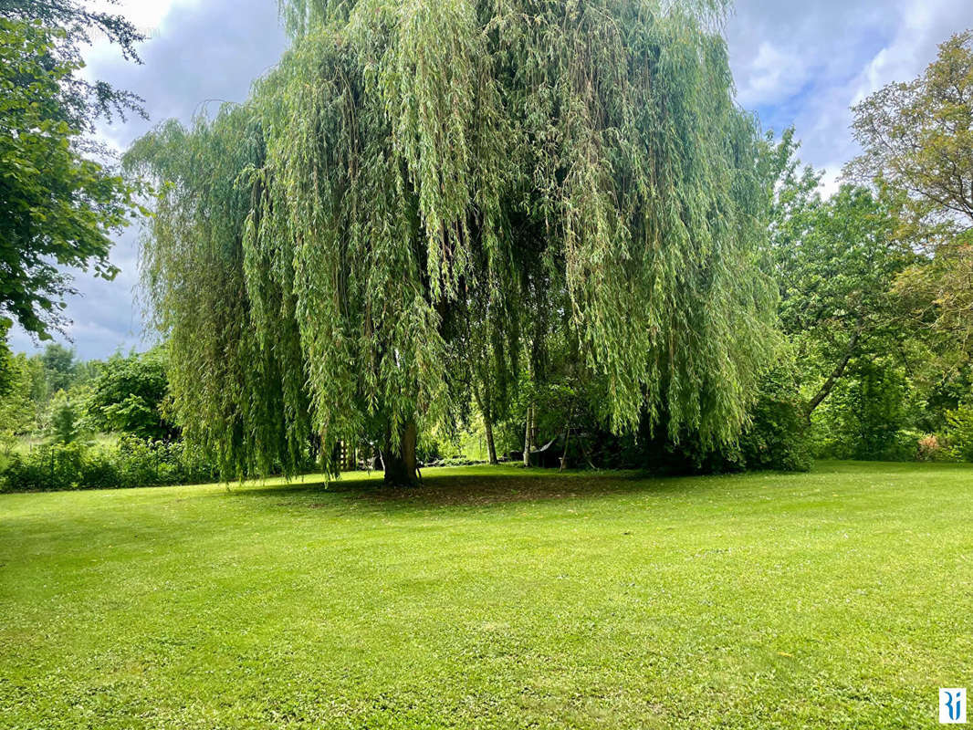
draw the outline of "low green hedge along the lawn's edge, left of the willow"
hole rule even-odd
[[[182,443],[124,437],[116,449],[52,444],[15,454],[0,475],[4,492],[121,489],[216,481],[216,470]]]

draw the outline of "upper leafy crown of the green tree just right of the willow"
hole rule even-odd
[[[818,175],[802,170],[795,152],[788,132],[776,151],[781,172],[767,253],[781,326],[805,370],[810,418],[850,363],[906,337],[891,290],[918,257],[896,236],[896,201],[851,185],[822,201]]]

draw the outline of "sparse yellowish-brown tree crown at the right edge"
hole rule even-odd
[[[913,81],[889,84],[853,108],[863,153],[847,174],[900,195],[899,234],[932,261],[898,290],[921,319],[973,350],[973,30],[951,37]]]

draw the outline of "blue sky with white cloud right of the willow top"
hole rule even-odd
[[[850,107],[915,78],[951,34],[973,26],[969,0],[739,0],[728,25],[740,102],[767,128],[793,125],[825,192],[858,153]]]

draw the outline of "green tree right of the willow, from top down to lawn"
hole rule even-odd
[[[903,230],[905,201],[851,185],[821,200],[790,132],[773,152],[781,172],[768,260],[818,455],[912,457],[905,429],[935,418],[919,404],[936,367],[895,290],[923,263]]]

